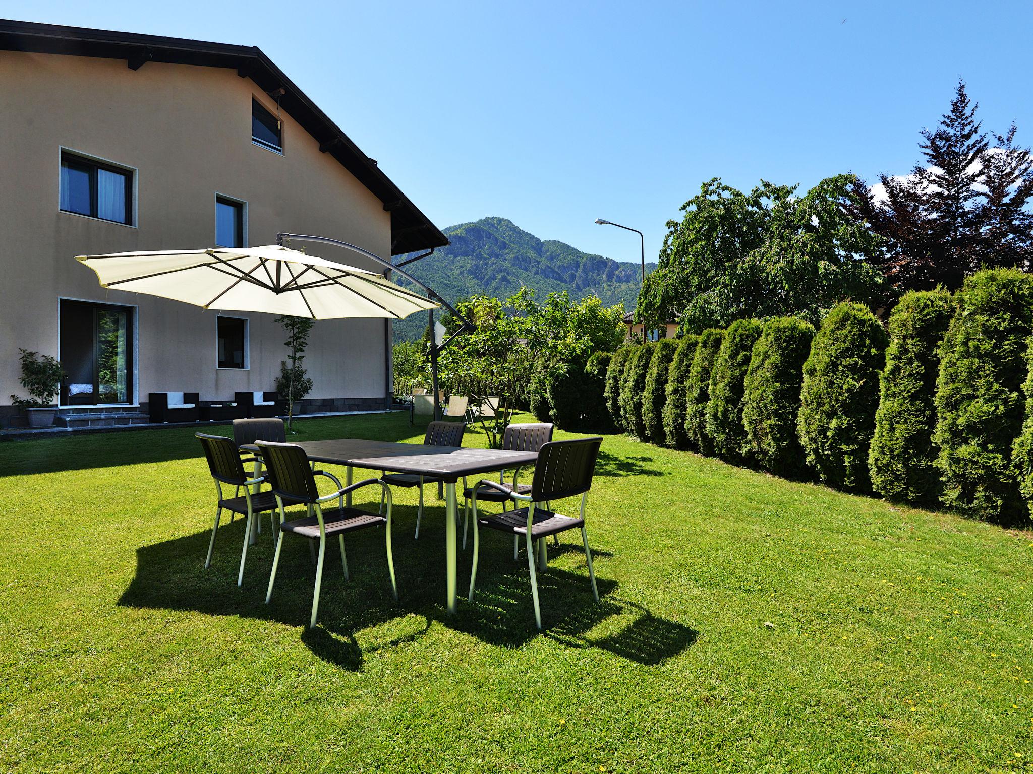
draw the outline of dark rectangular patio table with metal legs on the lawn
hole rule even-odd
[[[501,451],[498,449],[464,449],[456,446],[425,446],[396,444],[387,441],[340,439],[337,441],[303,441],[298,444],[309,459],[325,464],[345,466],[345,485],[351,484],[351,471],[408,473],[440,479],[445,485],[445,601],[448,612],[456,612],[456,482],[466,476],[532,465],[537,452]],[[257,453],[257,446],[242,446],[242,451]],[[347,505],[351,506],[351,495]]]

